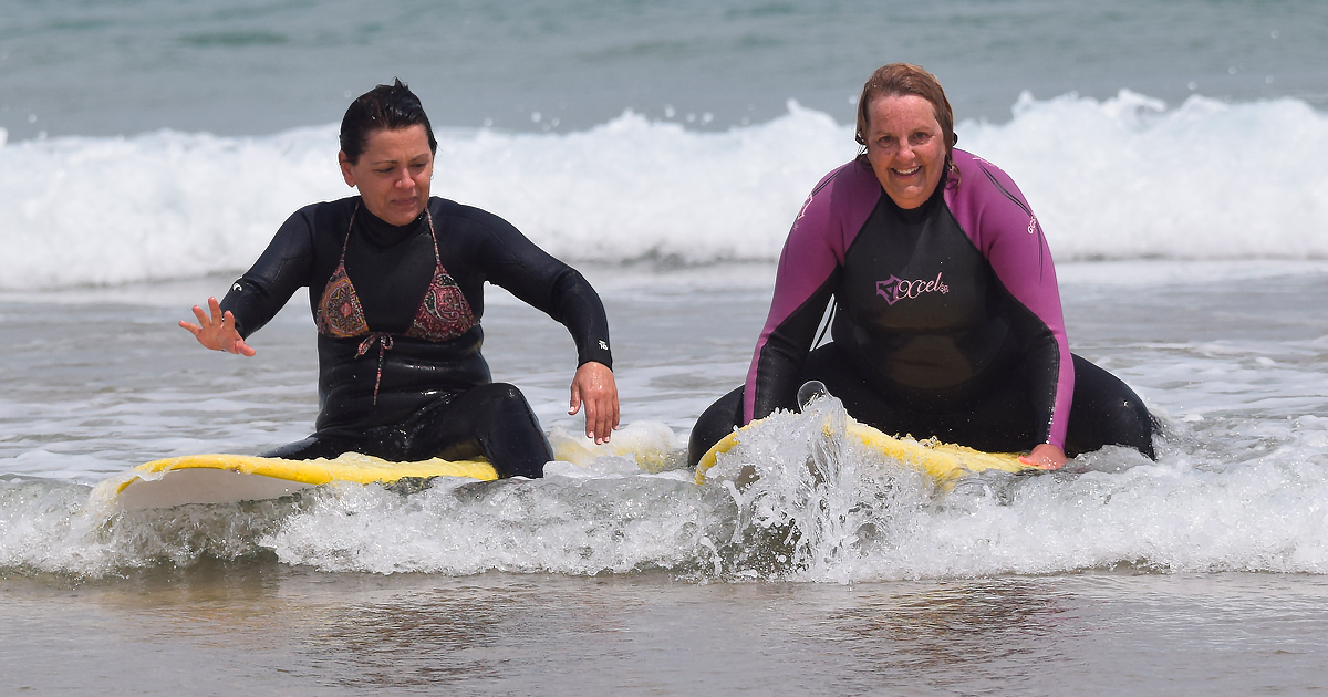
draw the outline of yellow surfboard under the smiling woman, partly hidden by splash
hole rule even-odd
[[[725,435],[701,457],[696,465],[696,483],[705,483],[705,473],[714,466],[721,453],[728,453],[748,431],[765,420],[756,420]],[[829,425],[826,430],[829,431]],[[895,438],[878,429],[849,420],[846,434],[858,438],[867,447],[882,455],[914,467],[936,479],[938,483],[954,482],[969,474],[996,470],[1008,473],[1042,471],[1019,461],[1015,453],[984,453],[961,445],[943,443],[935,438],[918,441],[910,437]]]

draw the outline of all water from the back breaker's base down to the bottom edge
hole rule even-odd
[[[742,378],[773,268],[584,272],[614,320],[624,421],[684,437]],[[878,528],[871,544],[813,534],[827,522],[807,524],[797,497],[770,489],[762,501],[806,527],[791,547],[717,485],[629,470],[89,519],[89,485],[143,459],[301,437],[316,406],[308,309],[293,300],[255,335],[259,354],[239,358],[197,350],[174,327],[187,299],[224,279],[8,293],[4,686],[1274,694],[1328,684],[1328,420],[1315,416],[1328,400],[1317,312],[1328,267],[1088,263],[1060,275],[1072,348],[1166,422],[1158,463],[1085,457],[1056,481],[997,482],[996,498],[891,475],[892,507],[829,520]],[[566,332],[491,296],[495,376],[522,386],[546,426],[575,426]],[[872,504],[875,477],[838,503]]]

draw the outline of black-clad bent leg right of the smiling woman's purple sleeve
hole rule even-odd
[[[1098,450],[1104,445],[1123,445],[1157,459],[1153,434],[1157,420],[1143,406],[1143,400],[1121,378],[1074,358],[1074,401],[1065,433],[1065,454]]]

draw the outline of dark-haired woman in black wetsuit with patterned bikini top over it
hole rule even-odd
[[[316,433],[268,457],[356,451],[392,461],[487,457],[503,477],[540,477],[552,459],[517,388],[495,384],[479,353],[483,283],[560,321],[576,343],[571,409],[586,435],[618,425],[608,321],[594,288],[506,220],[429,196],[437,141],[401,81],[378,85],[341,122],[341,174],[359,196],[296,211],[267,251],[198,324],[214,350],[246,343],[300,287],[319,339]]]

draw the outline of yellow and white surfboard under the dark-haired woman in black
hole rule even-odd
[[[157,459],[98,485],[124,510],[170,508],[186,503],[239,503],[293,494],[328,482],[390,485],[402,478],[466,477],[493,481],[482,459],[388,462],[347,453],[335,459],[280,459],[206,454]]]

